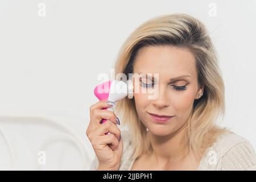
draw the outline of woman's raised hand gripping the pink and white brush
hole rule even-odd
[[[118,170],[123,152],[117,117],[113,111],[104,109],[111,106],[106,101],[99,101],[90,106],[90,123],[86,135],[98,158],[98,170]],[[101,124],[102,119],[107,121]],[[108,132],[109,134],[105,134]]]

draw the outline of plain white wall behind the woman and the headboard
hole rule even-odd
[[[46,16],[38,15],[39,3]],[[210,3],[216,16],[210,16]],[[0,1],[0,117],[85,130],[99,73],[110,74],[130,33],[162,14],[187,13],[208,28],[225,81],[227,126],[256,148],[256,1]],[[122,122],[122,121],[121,121]]]

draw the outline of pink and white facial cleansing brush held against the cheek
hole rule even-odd
[[[133,98],[133,84],[130,80],[127,83],[119,80],[105,81],[94,88],[94,94],[100,101],[117,102],[126,96],[131,99]],[[114,111],[113,106],[104,109]],[[101,120],[101,123],[104,122],[106,119]]]

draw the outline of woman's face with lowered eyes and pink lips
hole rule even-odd
[[[152,77],[158,73],[156,80],[142,75],[139,79],[139,92],[134,93],[138,116],[148,131],[165,136],[181,129],[192,111],[194,100],[203,93],[203,90],[197,88],[197,72],[192,52],[186,48],[171,46],[143,47],[139,49],[134,61],[134,73],[150,73]],[[171,78],[183,75],[188,76],[170,82]],[[147,90],[146,85],[149,90],[155,89],[158,97],[149,99],[152,92]],[[174,117],[159,123],[148,113]]]

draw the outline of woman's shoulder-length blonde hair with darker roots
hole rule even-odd
[[[115,73],[133,73],[138,50],[145,46],[175,46],[188,48],[196,60],[197,81],[204,86],[203,97],[195,100],[188,117],[185,140],[189,150],[197,156],[204,153],[220,134],[228,131],[215,123],[225,114],[225,88],[212,40],[203,23],[186,14],[156,16],[131,33],[119,51]],[[122,125],[127,125],[134,147],[133,158],[150,152],[147,130],[135,109],[134,98],[117,102],[115,111],[123,115]]]

